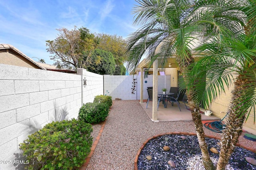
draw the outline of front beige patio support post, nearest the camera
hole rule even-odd
[[[158,95],[157,95],[157,87],[158,87],[158,60],[155,60],[153,63],[153,107],[152,107],[152,120],[157,121],[157,103],[158,103]]]

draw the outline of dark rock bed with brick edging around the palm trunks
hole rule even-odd
[[[185,136],[186,139],[181,137]],[[166,141],[166,137],[169,138]],[[212,153],[210,148],[214,147],[220,152],[220,142],[216,139],[206,138],[206,143],[209,148],[210,157],[217,164],[219,155]],[[163,147],[168,146],[170,150],[164,151]],[[180,150],[186,150],[185,153],[180,153]],[[147,160],[146,156],[152,156],[152,160]],[[246,162],[245,157],[256,159],[256,154],[236,147],[230,157],[229,164],[226,170],[256,170],[256,166]],[[174,161],[176,168],[171,167],[168,161]],[[201,161],[201,150],[199,148],[198,139],[192,135],[163,135],[155,139],[151,139],[146,143],[138,157],[138,170],[204,170]]]

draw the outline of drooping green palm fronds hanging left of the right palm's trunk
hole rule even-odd
[[[195,94],[193,100],[198,104],[209,107],[220,94],[225,92],[233,80],[234,63],[231,59],[206,56],[191,64],[186,70],[185,82],[188,91],[192,89]]]

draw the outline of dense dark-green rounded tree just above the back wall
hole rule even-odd
[[[113,75],[115,71],[115,60],[111,52],[95,49],[91,56],[91,63],[87,66],[88,71],[97,74]]]

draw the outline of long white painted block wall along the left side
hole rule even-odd
[[[103,76],[86,70],[81,76],[0,64],[0,72],[0,160],[22,160],[18,145],[28,135],[52,121],[77,118],[82,94],[84,103],[103,94]],[[15,168],[0,164],[0,170]]]

